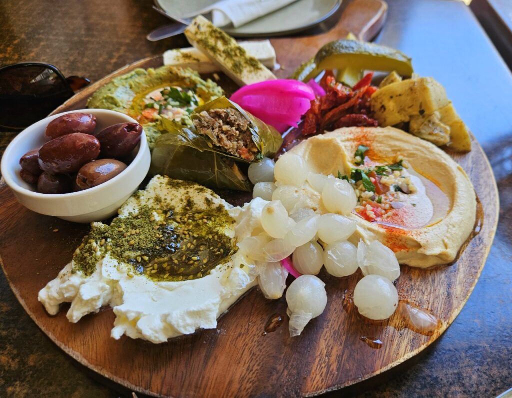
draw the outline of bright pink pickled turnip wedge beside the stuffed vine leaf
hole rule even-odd
[[[277,79],[244,86],[229,99],[284,132],[290,126],[297,127],[314,98],[315,93],[307,84],[294,79]]]

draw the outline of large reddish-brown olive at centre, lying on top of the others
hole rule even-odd
[[[50,174],[74,173],[84,164],[95,160],[99,151],[99,141],[93,135],[62,135],[39,149],[39,167]]]

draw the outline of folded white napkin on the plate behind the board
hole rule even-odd
[[[233,24],[235,28],[247,24],[253,19],[270,14],[295,2],[296,0],[221,0],[212,4],[194,15],[211,12],[211,22],[218,27]]]

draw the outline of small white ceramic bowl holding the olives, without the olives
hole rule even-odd
[[[76,223],[105,220],[114,215],[137,190],[150,168],[151,154],[144,132],[132,163],[114,178],[96,187],[71,193],[45,194],[35,192],[35,187],[19,176],[19,158],[46,142],[44,133],[48,123],[60,115],[72,112],[86,112],[96,116],[96,131],[116,123],[137,123],[130,116],[106,109],[79,109],[48,116],[27,127],[12,140],[2,157],[2,176],[18,202],[36,213],[53,215]]]

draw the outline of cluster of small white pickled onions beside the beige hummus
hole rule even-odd
[[[359,239],[350,216],[357,198],[347,181],[314,173],[294,153],[252,164],[248,174],[256,221],[250,236],[239,242],[239,253],[257,264],[267,298],[281,297],[288,274],[295,277],[286,292],[291,336],[300,335],[325,309],[325,284],[315,276],[323,267],[336,277],[360,268],[365,276],[354,290],[358,311],[373,320],[393,314],[398,261],[380,242]]]

